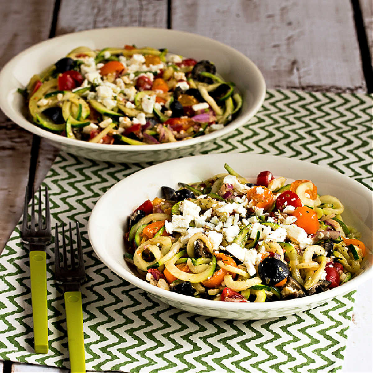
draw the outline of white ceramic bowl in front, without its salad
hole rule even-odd
[[[230,303],[197,299],[166,291],[138,278],[123,260],[123,234],[128,216],[147,199],[160,196],[163,185],[177,188],[178,182],[196,182],[224,172],[228,163],[243,176],[263,170],[289,179],[310,179],[321,194],[339,198],[345,206],[345,222],[363,235],[368,260],[356,278],[320,294],[269,303]],[[98,257],[117,275],[144,289],[157,300],[206,316],[231,319],[266,319],[314,308],[337,295],[354,290],[372,275],[372,192],[358,182],[325,167],[298,160],[258,154],[213,154],[187,157],[148,167],[128,176],[109,189],[97,202],[89,220],[88,233]]]

